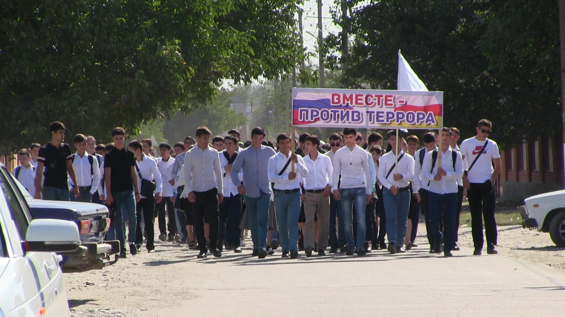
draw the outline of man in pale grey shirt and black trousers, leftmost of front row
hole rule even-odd
[[[204,234],[204,219],[210,224],[210,249],[214,257],[221,257],[218,245],[219,204],[224,199],[220,156],[216,149],[209,146],[210,130],[201,126],[196,129],[196,146],[189,149],[184,156],[184,190],[188,192],[188,200],[192,202],[194,215],[194,231],[200,254],[198,258],[206,258],[208,248]]]

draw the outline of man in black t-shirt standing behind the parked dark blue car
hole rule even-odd
[[[59,122],[52,122],[49,126],[51,142],[45,144],[39,150],[36,169],[36,195],[35,199],[45,200],[69,200],[67,184],[67,172],[76,184],[75,170],[71,162],[71,147],[63,143],[65,138],[65,126]],[[45,174],[44,172],[45,167]],[[41,184],[42,175],[45,175],[44,183]],[[43,185],[43,186],[42,186]],[[79,187],[75,187],[75,198],[79,197]]]

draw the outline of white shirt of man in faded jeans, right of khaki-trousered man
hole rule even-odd
[[[345,146],[336,151],[333,156],[332,179],[339,179],[340,174],[340,188],[365,187],[367,195],[371,195],[375,182],[371,183],[369,158],[363,148],[355,146],[350,150]],[[332,192],[335,190],[337,190],[337,182],[332,184]]]

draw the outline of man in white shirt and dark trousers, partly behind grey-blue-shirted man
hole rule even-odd
[[[241,253],[240,246],[240,222],[241,222],[241,195],[237,191],[236,183],[232,182],[232,166],[236,161],[238,148],[237,138],[227,135],[222,142],[225,150],[220,152],[220,165],[223,171],[224,182],[224,201],[220,204],[220,226],[218,234],[218,249],[223,249],[225,243],[226,250],[233,250],[234,253]],[[241,181],[243,173],[238,180]]]

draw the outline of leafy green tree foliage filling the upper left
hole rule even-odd
[[[0,6],[0,148],[189,113],[223,78],[289,72],[295,0],[7,1]]]

